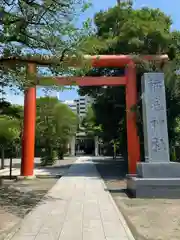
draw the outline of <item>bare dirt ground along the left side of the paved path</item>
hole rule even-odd
[[[74,161],[73,158],[62,160],[55,168],[64,174]],[[53,176],[22,181],[3,179],[0,186],[0,240],[41,201],[57,180]]]

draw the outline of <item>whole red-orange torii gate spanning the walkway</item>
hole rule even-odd
[[[136,164],[140,161],[140,142],[136,126],[136,113],[131,109],[137,104],[136,66],[142,60],[163,62],[168,60],[167,55],[161,56],[133,56],[133,55],[100,55],[84,56],[91,62],[92,67],[126,67],[123,77],[52,77],[59,85],[78,86],[118,86],[124,85],[126,91],[126,119],[127,119],[127,146],[129,173],[136,173]],[[29,61],[30,62],[30,61]],[[42,64],[43,65],[43,64]],[[47,65],[47,64],[46,64]],[[77,66],[77,64],[76,64]],[[36,64],[28,64],[28,72],[36,74]],[[40,78],[43,80],[49,77]],[[36,88],[30,87],[24,97],[24,129],[22,144],[21,175],[33,176],[35,150],[35,123],[36,123]]]

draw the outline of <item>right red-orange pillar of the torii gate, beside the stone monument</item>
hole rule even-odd
[[[136,113],[132,109],[137,104],[136,66],[130,62],[126,68],[126,121],[129,174],[136,173],[136,164],[140,161],[140,141],[136,123]]]

